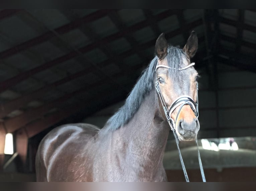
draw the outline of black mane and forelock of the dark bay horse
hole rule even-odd
[[[183,55],[185,55],[185,53],[178,47],[169,46],[167,49],[167,62],[169,67],[172,68],[169,69],[169,74],[174,80],[178,80],[179,76],[176,72],[177,70],[173,68],[179,68],[181,66]],[[156,64],[157,57],[155,56],[147,69],[143,71],[142,76],[127,97],[125,104],[107,121],[105,124],[106,128],[114,131],[125,125],[133,117],[144,97],[148,95],[154,87]]]

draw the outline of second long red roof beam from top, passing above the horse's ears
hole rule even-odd
[[[166,17],[169,17],[173,14],[175,14],[176,11],[172,10],[172,11],[165,11],[163,13],[160,13],[159,15],[156,15],[155,16],[155,19],[156,20],[162,20]],[[135,32],[139,29],[142,29],[143,27],[146,27],[147,25],[150,24],[150,20],[145,20],[145,21],[142,21],[140,23],[137,23],[135,25],[132,25],[130,27],[127,27],[125,28],[124,30],[120,31],[120,32],[117,32],[113,35],[110,35],[108,37],[105,37],[103,39],[100,39],[92,44],[89,44],[85,47],[82,47],[79,49],[80,52],[82,53],[86,53],[87,51],[91,51],[93,48],[96,48],[97,46],[100,46],[101,44],[103,43],[108,43],[108,42],[111,42],[115,39],[118,39],[128,33],[132,33],[132,32]],[[70,60],[72,58],[75,58],[76,56],[78,56],[79,53],[77,53],[76,51],[72,51],[64,56],[61,56],[61,57],[58,57],[52,61],[49,61],[45,64],[42,64],[36,68],[33,68],[31,70],[28,70],[28,71],[25,71],[25,72],[22,72],[20,74],[18,74],[17,76],[13,77],[13,78],[10,78],[10,79],[7,79],[3,82],[0,83],[0,92],[3,92],[5,90],[7,90],[8,88],[18,84],[19,82],[33,76],[34,74],[38,73],[38,72],[41,72],[43,70],[46,70],[54,65],[57,65],[57,64],[60,64],[64,61],[67,61],[67,60]],[[1,57],[0,57],[1,58]]]

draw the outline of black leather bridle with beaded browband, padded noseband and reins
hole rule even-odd
[[[190,65],[184,67],[184,68],[178,68],[178,69],[175,69],[173,68],[174,70],[179,70],[179,71],[182,71],[182,70],[185,70],[191,66],[194,66],[195,63],[191,63]],[[155,69],[155,72],[158,68],[167,68],[167,69],[171,69],[170,67],[168,66],[165,66],[165,65],[158,65],[156,66],[156,69]],[[156,76],[156,75],[155,75]],[[163,110],[164,110],[164,114],[165,114],[165,117],[167,119],[167,122],[170,126],[170,129],[172,130],[173,132],[173,135],[175,137],[175,141],[176,141],[176,144],[177,144],[177,148],[178,148],[178,152],[179,152],[179,158],[180,158],[180,162],[181,162],[181,165],[182,165],[182,169],[183,169],[183,172],[184,172],[184,175],[185,175],[185,179],[186,179],[186,182],[189,182],[189,179],[188,179],[188,176],[187,176],[187,172],[186,172],[186,169],[185,169],[185,165],[184,165],[184,162],[183,162],[183,159],[182,159],[182,156],[181,156],[181,153],[180,153],[180,150],[179,150],[179,141],[178,141],[178,136],[177,136],[177,133],[175,131],[175,125],[176,125],[176,122],[177,122],[177,118],[178,118],[178,115],[181,111],[181,108],[184,106],[184,105],[189,105],[191,107],[191,109],[193,110],[195,116],[198,118],[199,116],[199,112],[198,112],[198,82],[197,83],[197,102],[195,103],[195,101],[188,95],[181,95],[179,96],[178,98],[176,98],[170,108],[168,109],[168,107],[166,106],[165,104],[165,101],[163,99],[163,96],[161,94],[161,91],[160,91],[160,88],[159,88],[159,81],[157,79],[157,76],[156,76],[156,81],[155,81],[155,89],[156,89],[156,93],[161,101],[161,104],[162,104],[162,107],[163,107]],[[175,121],[171,118],[171,113],[178,107],[180,106],[178,112],[177,112],[177,115],[176,115],[176,119]],[[159,107],[159,103],[158,103],[158,107]],[[160,111],[160,109],[159,109]],[[197,147],[198,147],[198,141],[197,141],[197,137],[196,137],[196,143],[197,143]],[[205,179],[205,174],[204,174],[204,170],[203,170],[203,165],[202,165],[202,161],[201,161],[201,157],[200,157],[200,153],[199,153],[199,149],[198,149],[198,160],[199,160],[199,166],[200,166],[200,171],[201,171],[201,175],[202,175],[202,179],[203,179],[203,182],[206,182],[206,179]]]

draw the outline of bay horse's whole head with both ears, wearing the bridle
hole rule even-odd
[[[155,45],[160,113],[164,118],[170,117],[179,139],[184,141],[195,140],[200,128],[196,116],[198,73],[190,63],[197,48],[198,38],[194,31],[183,49],[168,47],[164,34],[158,37]],[[167,107],[165,111],[164,106]]]

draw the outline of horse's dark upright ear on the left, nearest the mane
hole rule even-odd
[[[168,43],[164,38],[164,33],[162,33],[159,35],[155,43],[155,54],[160,60],[165,58],[167,54],[167,46]]]

